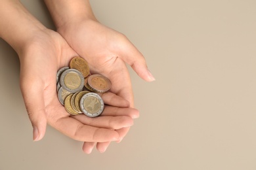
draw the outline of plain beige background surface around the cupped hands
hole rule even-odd
[[[42,1],[22,3],[54,29]],[[131,70],[140,118],[104,154],[84,154],[81,142],[52,127],[32,142],[19,61],[0,40],[1,170],[256,169],[256,1],[91,5],[100,22],[129,37],[156,76],[148,83]]]

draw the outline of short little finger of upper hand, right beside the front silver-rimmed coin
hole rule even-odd
[[[129,107],[130,103],[123,97],[116,95],[115,93],[107,92],[101,95],[106,105],[112,105],[115,107]]]

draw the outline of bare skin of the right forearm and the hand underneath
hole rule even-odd
[[[112,82],[111,92],[127,99],[130,107],[134,107],[131,79],[125,63],[144,80],[155,80],[146,66],[146,61],[137,48],[125,35],[110,29],[96,20],[87,0],[45,0],[53,17],[58,33],[68,44],[85,58],[92,73],[107,76]],[[120,142],[129,131],[129,127],[117,129]],[[90,153],[92,148],[104,152],[110,141],[106,143],[85,143],[83,150]]]

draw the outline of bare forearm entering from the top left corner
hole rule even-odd
[[[45,29],[18,0],[1,0],[0,37],[7,41],[16,52],[22,50],[33,39],[36,32]]]

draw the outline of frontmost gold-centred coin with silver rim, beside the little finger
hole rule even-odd
[[[104,110],[104,102],[96,93],[86,93],[80,100],[81,111],[89,117],[99,116]]]

